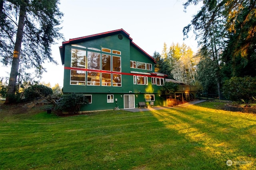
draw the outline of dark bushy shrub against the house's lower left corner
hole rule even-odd
[[[57,103],[55,110],[58,112],[67,111],[70,114],[77,113],[80,107],[87,104],[88,101],[84,95],[72,93],[71,95],[64,95]]]

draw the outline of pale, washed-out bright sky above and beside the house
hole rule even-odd
[[[195,36],[190,35],[183,41],[182,29],[192,20],[199,6],[191,5],[184,12],[182,4],[186,0],[60,0],[62,30],[65,40],[83,37],[96,33],[124,29],[133,42],[149,55],[154,51],[162,53],[164,42],[168,47],[172,43],[185,43],[194,52],[197,49]],[[58,83],[63,86],[64,66],[61,64],[58,47],[62,41],[52,46],[52,55],[58,65],[46,63],[47,72],[41,82],[50,82],[51,86]],[[1,69],[2,70],[2,69]],[[8,76],[9,68],[0,72]]]

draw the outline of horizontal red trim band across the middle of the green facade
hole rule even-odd
[[[105,70],[92,70],[87,68],[74,68],[74,67],[64,67],[66,70],[81,70],[81,71],[93,71],[93,72],[103,72],[103,73],[112,73],[112,74],[122,74],[122,75],[129,75],[129,76],[145,76],[145,77],[158,77],[164,78],[163,76],[156,76],[156,74],[151,73],[152,75],[147,74],[136,74],[136,73],[128,73],[128,72],[115,72],[115,71],[105,71]]]

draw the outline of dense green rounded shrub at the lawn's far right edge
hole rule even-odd
[[[256,77],[232,77],[224,82],[222,91],[229,100],[243,99],[248,102],[251,97],[256,96]]]

